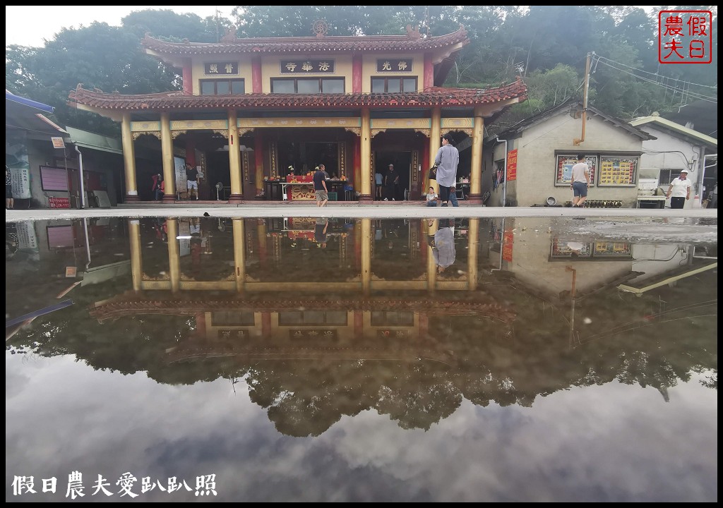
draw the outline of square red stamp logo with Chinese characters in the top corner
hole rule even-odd
[[[710,64],[713,30],[710,11],[660,11],[658,61],[661,64]]]

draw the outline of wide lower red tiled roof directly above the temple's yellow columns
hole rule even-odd
[[[164,92],[146,95],[122,95],[85,90],[78,85],[69,94],[69,105],[84,105],[114,111],[168,111],[210,108],[283,108],[352,109],[361,107],[429,108],[470,107],[502,100],[527,98],[527,87],[518,78],[509,85],[484,90],[476,88],[430,87],[422,92],[280,94],[247,93],[243,95],[183,95]]]

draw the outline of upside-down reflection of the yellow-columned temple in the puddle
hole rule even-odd
[[[435,316],[514,317],[476,292],[479,219],[455,228],[463,256],[448,270],[427,244],[437,221],[339,220],[325,224],[323,247],[315,219],[200,222],[164,220],[163,252],[143,249],[153,238],[131,221],[133,293],[98,303],[93,315],[192,315],[197,337],[241,341],[402,339],[424,337]],[[450,290],[454,298],[437,294]]]

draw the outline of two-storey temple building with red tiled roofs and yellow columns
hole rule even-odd
[[[398,198],[421,199],[446,133],[461,150],[466,197],[481,202],[484,121],[526,99],[521,79],[485,90],[442,86],[469,43],[463,27],[438,37],[411,27],[329,36],[317,22],[314,33],[229,33],[219,43],[146,35],[145,51],[181,70],[183,90],[123,95],[78,85],[69,103],[121,123],[124,202],[155,199],[158,173],[164,203],[186,199],[187,165],[200,175],[197,197],[231,204],[313,199],[309,173],[320,164],[331,199],[372,202],[375,173],[389,165]],[[140,153],[160,156],[149,163]]]

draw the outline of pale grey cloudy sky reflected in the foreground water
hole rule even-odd
[[[7,360],[7,379],[27,368],[17,361]],[[130,471],[139,493],[143,476],[178,476],[194,488],[195,476],[215,473],[215,501],[711,501],[717,495],[710,442],[717,398],[716,390],[701,389],[703,375],[669,388],[670,402],[654,388],[607,383],[536,397],[531,408],[463,401],[428,431],[403,430],[367,410],[343,416],[319,438],[292,438],[275,431],[242,384],[229,396],[227,379],[168,386],[144,374],[92,371],[69,357],[40,367],[29,381],[15,383],[17,397],[6,401],[7,474],[54,475],[59,491],[70,470],[81,470],[91,491],[90,478],[103,474],[117,491],[116,479]],[[194,496],[156,489],[137,499]]]

